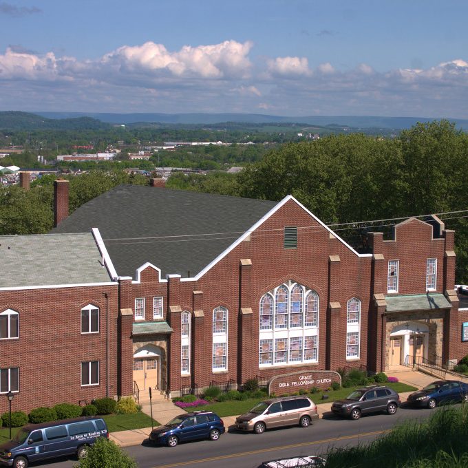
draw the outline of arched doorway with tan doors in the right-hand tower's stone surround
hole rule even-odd
[[[419,321],[408,321],[397,325],[390,333],[390,356],[388,364],[413,365],[427,359],[429,327]]]

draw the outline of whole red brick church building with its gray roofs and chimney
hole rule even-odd
[[[15,407],[468,354],[454,231],[436,216],[368,233],[358,253],[290,195],[152,185],[68,216],[57,181],[51,234],[0,237],[0,394]]]

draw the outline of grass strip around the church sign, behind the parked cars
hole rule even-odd
[[[418,390],[416,387],[412,387],[411,385],[406,385],[405,383],[395,382],[395,383],[385,383],[383,385],[387,385],[387,387],[392,388],[395,392],[415,392]],[[330,390],[326,392],[328,394],[328,398],[326,400],[322,400],[323,392],[308,394],[307,396],[314,402],[314,403],[328,403],[335,400],[341,400],[341,398],[346,398],[353,390],[357,388],[361,388],[362,385],[358,385],[357,387],[348,387],[348,388],[340,388],[339,390]],[[255,406],[259,401],[263,401],[265,398],[249,398],[248,400],[228,400],[222,401],[220,403],[211,403],[211,405],[204,405],[194,408],[203,409],[203,411],[213,411],[218,416],[237,416],[237,414],[243,414],[248,412],[253,406]]]

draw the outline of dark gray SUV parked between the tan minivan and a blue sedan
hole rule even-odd
[[[386,411],[395,414],[401,405],[400,396],[391,388],[371,385],[354,390],[344,400],[334,401],[332,412],[339,416],[359,419],[361,414]]]

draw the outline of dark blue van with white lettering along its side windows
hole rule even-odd
[[[12,440],[0,445],[0,465],[26,468],[30,462],[57,456],[86,456],[96,438],[109,438],[103,418],[74,418],[28,424]]]

